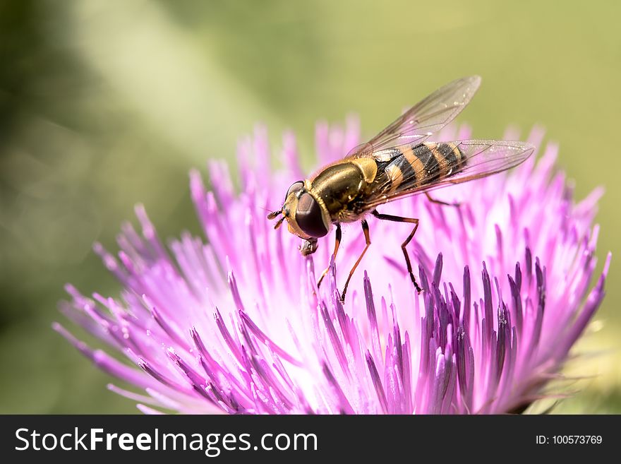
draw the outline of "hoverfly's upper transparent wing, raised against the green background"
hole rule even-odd
[[[405,143],[421,143],[450,123],[481,85],[479,76],[452,81],[408,109],[368,143],[352,149],[347,157],[368,156],[371,151]],[[369,150],[369,146],[372,150]]]

